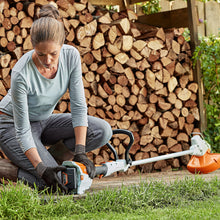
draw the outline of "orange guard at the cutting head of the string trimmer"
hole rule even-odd
[[[203,156],[192,156],[187,169],[189,172],[195,174],[205,174],[213,172],[220,168],[220,154],[210,153],[207,150]]]

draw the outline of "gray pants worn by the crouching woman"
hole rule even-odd
[[[47,166],[57,166],[57,162],[45,146],[54,145],[60,140],[74,152],[75,135],[70,113],[53,114],[47,120],[31,122],[32,135],[38,153]],[[105,145],[112,137],[111,126],[104,120],[88,116],[86,152]],[[45,182],[38,176],[33,165],[20,148],[15,136],[13,118],[0,115],[0,147],[5,155],[19,167],[18,178],[30,185],[44,188]]]

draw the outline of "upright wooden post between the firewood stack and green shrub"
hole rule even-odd
[[[197,31],[197,13],[195,0],[187,0],[188,5],[188,20],[189,20],[189,30],[190,30],[190,42],[192,52],[195,50],[196,46],[199,45],[198,31]],[[206,112],[203,103],[203,82],[201,80],[201,68],[199,61],[196,62],[196,66],[193,69],[193,78],[199,85],[198,88],[198,104],[200,109],[200,129],[203,132],[206,129]]]

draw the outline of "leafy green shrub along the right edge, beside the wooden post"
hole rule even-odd
[[[206,139],[213,151],[220,152],[220,38],[202,38],[193,59],[200,61],[205,88]]]

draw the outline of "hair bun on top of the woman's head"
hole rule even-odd
[[[47,4],[42,6],[42,8],[38,13],[38,18],[42,18],[42,17],[51,17],[56,20],[61,19],[58,9],[53,4]]]

